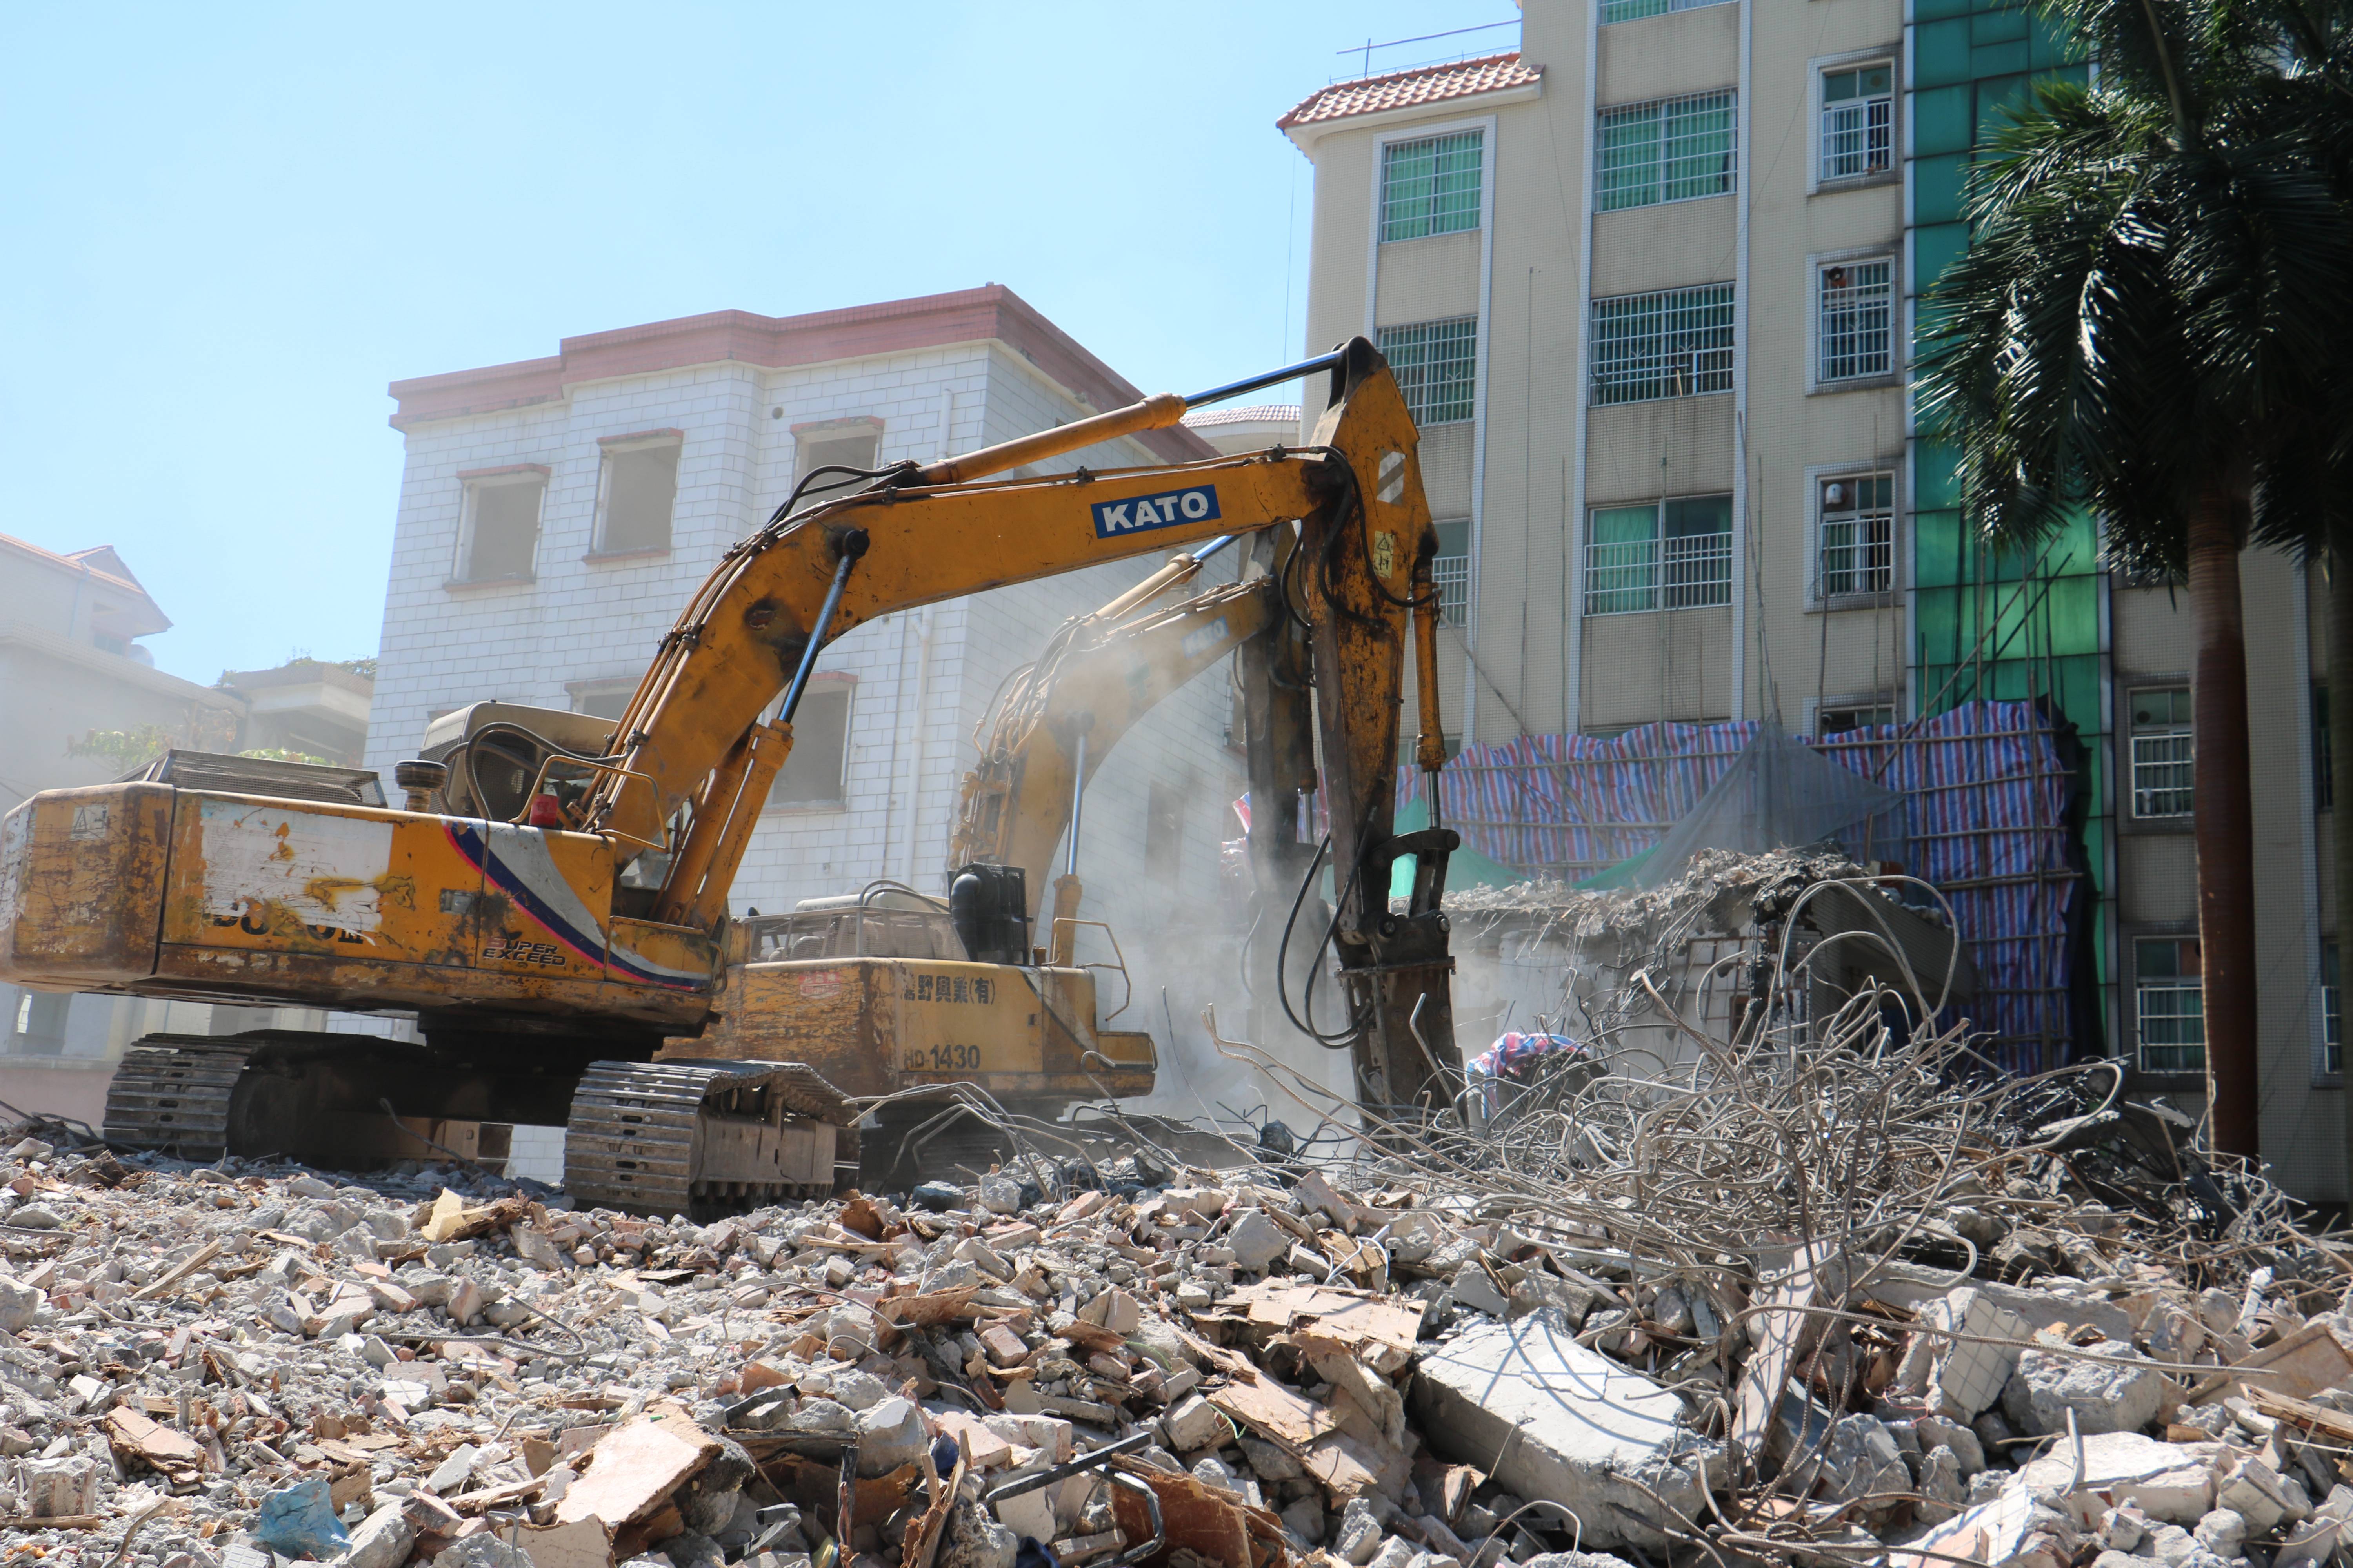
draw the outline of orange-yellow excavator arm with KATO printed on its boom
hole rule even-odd
[[[1186,407],[1299,374],[1329,371],[1315,442],[1200,463],[1045,480],[976,482],[1118,435],[1174,425]],[[1445,858],[1454,835],[1391,832],[1405,649],[1417,651],[1417,759],[1445,764],[1435,691],[1438,536],[1421,489],[1419,433],[1365,339],[1325,360],[1026,435],[932,465],[906,463],[840,501],[772,520],[734,545],[680,614],[567,825],[666,846],[654,919],[711,929],[791,748],[791,719],[816,651],[866,621],[955,595],[1297,522],[1285,583],[1313,628],[1313,724],[1339,891],[1325,943],[1346,1020],[1325,1044],[1358,1058],[1360,1093],[1424,1098],[1452,1041]],[[1419,609],[1419,614],[1417,614]],[[1304,703],[1287,705],[1289,722]],[[774,717],[772,717],[774,715]],[[1280,741],[1304,752],[1306,741]],[[1435,790],[1431,790],[1435,799]],[[1282,813],[1278,813],[1282,816]],[[1388,907],[1391,865],[1417,856],[1405,912]],[[1264,856],[1261,856],[1264,860]],[[1308,870],[1313,875],[1313,867]]]

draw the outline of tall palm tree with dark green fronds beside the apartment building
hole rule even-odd
[[[2257,1152],[2254,839],[2238,557],[2311,451],[2353,226],[2311,139],[2259,113],[2259,26],[2209,0],[2049,0],[2101,85],[2045,85],[1977,167],[1927,301],[1922,416],[2000,541],[2089,505],[2122,567],[2186,576],[2214,1143]]]

